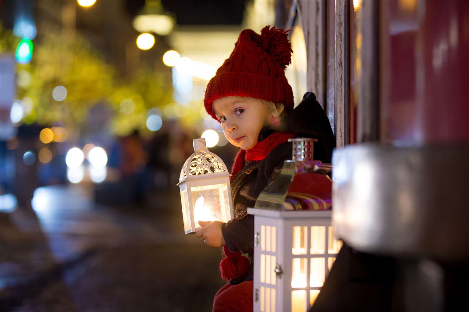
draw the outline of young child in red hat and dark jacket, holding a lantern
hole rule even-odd
[[[227,255],[220,269],[229,283],[215,295],[213,311],[252,311],[254,217],[246,209],[254,207],[275,178],[274,169],[291,159],[287,140],[316,138],[315,159],[331,161],[335,139],[315,95],[306,93],[293,109],[293,92],[285,77],[291,52],[284,30],[266,26],[260,35],[243,30],[205,91],[206,111],[221,123],[227,140],[240,148],[231,177],[234,219],[201,221],[197,231],[197,237],[209,246],[223,246]]]

